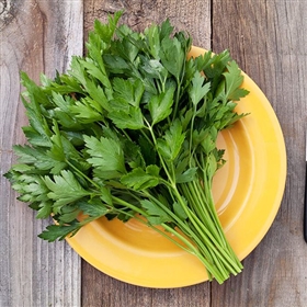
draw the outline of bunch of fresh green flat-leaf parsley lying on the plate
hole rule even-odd
[[[37,218],[53,215],[45,240],[102,216],[137,218],[223,283],[242,265],[212,181],[224,163],[218,133],[245,116],[235,112],[243,77],[227,50],[187,59],[191,37],[169,21],[137,33],[117,25],[121,14],[95,21],[88,55],[67,73],[42,76],[41,86],[21,73],[29,144],[14,146],[19,163],[5,175]]]

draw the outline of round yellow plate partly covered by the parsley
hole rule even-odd
[[[205,50],[194,47],[192,56]],[[237,106],[250,113],[220,134],[226,164],[214,179],[214,197],[226,236],[239,259],[246,258],[269,230],[281,205],[286,154],[271,104],[245,75],[250,94]],[[201,262],[136,220],[104,218],[83,227],[69,245],[105,274],[147,287],[180,287],[207,281]],[[265,255],[263,255],[265,257]]]

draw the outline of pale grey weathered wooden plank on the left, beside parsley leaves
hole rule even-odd
[[[38,81],[67,68],[71,54],[82,54],[82,1],[7,0],[0,5],[0,306],[80,306],[80,259],[64,242],[36,236],[46,221],[35,220],[15,201],[3,172],[14,161],[12,145],[24,141],[26,124],[19,99],[19,71]]]

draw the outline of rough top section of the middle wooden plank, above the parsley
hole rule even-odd
[[[84,1],[84,33],[92,30],[93,21],[106,21],[109,13],[124,10],[121,19],[134,30],[143,31],[151,23],[167,18],[178,31],[193,34],[195,45],[211,47],[211,1],[202,0],[87,0]]]

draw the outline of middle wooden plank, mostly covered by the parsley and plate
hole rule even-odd
[[[211,46],[209,1],[86,1],[84,35],[92,30],[94,19],[106,20],[107,13],[125,9],[122,21],[136,30],[170,21],[177,30],[187,31],[195,45]],[[151,289],[116,281],[82,262],[82,306],[209,306],[209,284],[174,288]]]

